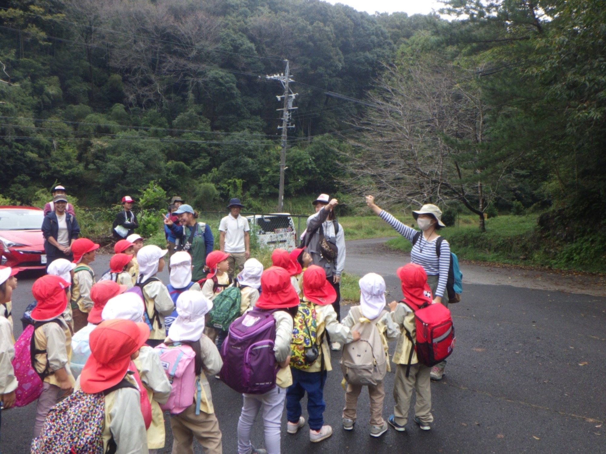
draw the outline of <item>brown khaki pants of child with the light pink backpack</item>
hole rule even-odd
[[[170,428],[173,431],[172,454],[193,454],[194,437],[206,454],[222,454],[221,430],[215,413],[201,411],[196,415],[196,403],[178,415],[171,415]]]

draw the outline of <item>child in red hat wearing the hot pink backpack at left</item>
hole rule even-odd
[[[30,317],[36,322],[32,334],[32,367],[43,382],[36,405],[34,438],[40,435],[48,410],[60,395],[72,392],[75,380],[70,370],[72,334],[62,313],[67,306],[69,283],[47,274],[35,281],[32,295],[37,301]]]

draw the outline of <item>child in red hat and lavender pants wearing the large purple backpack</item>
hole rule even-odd
[[[256,309],[272,311],[276,321],[276,338],[273,350],[279,364],[276,387],[265,394],[244,394],[242,413],[238,421],[238,454],[280,454],[280,426],[287,388],[293,383],[290,373],[290,342],[293,338],[293,316],[296,315],[299,296],[290,284],[288,273],[276,266],[266,269],[261,276],[261,296]],[[273,367],[273,365],[272,365]],[[263,409],[265,450],[256,450],[250,443],[255,418]]]

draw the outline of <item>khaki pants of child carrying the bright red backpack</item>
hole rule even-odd
[[[408,418],[408,408],[413,391],[416,390],[415,416],[425,423],[433,421],[431,415],[431,380],[429,373],[431,367],[423,364],[410,366],[410,373],[406,378],[406,364],[396,366],[396,376],[393,380],[393,415],[396,423],[404,426]]]

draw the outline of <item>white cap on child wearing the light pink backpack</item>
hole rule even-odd
[[[212,301],[207,300],[202,292],[184,291],[177,298],[178,317],[168,328],[170,340],[176,342],[198,341],[204,332],[205,315],[212,308]]]

